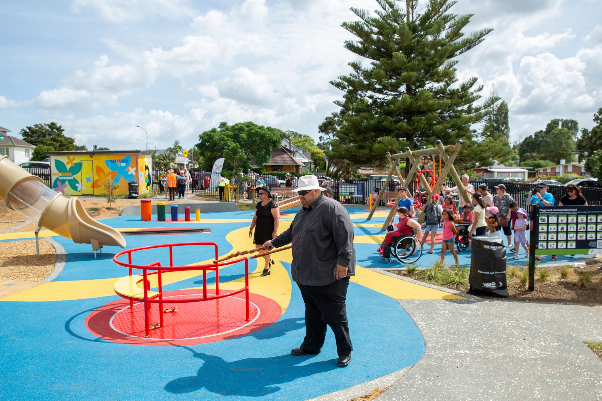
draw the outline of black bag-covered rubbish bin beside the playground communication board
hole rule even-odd
[[[478,236],[470,242],[469,294],[508,296],[506,246],[501,237]]]

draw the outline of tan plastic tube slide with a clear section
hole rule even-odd
[[[72,239],[90,243],[98,251],[103,245],[125,248],[125,239],[113,227],[99,223],[85,212],[78,198],[66,198],[44,185],[7,156],[0,156],[0,197],[38,226]]]

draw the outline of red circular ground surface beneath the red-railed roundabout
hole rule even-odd
[[[220,290],[220,294],[228,292]],[[241,337],[272,325],[282,315],[281,307],[272,299],[249,293],[249,319],[245,321],[244,292],[221,299],[185,304],[170,304],[169,299],[199,298],[202,290],[166,292],[163,308],[178,307],[178,312],[163,313],[164,326],[150,331],[144,338],[144,309],[141,303],[129,308],[127,299],[103,305],[88,315],[88,331],[103,340],[116,343],[181,346],[211,343]],[[214,290],[208,290],[214,295]],[[255,305],[253,305],[255,304]],[[259,309],[259,311],[258,311]],[[159,322],[159,305],[153,304],[150,323]]]

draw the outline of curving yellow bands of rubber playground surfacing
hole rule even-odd
[[[364,216],[365,214],[365,216]],[[385,215],[386,213],[382,213]],[[365,218],[367,213],[361,215],[352,215],[352,219]],[[226,220],[228,221],[228,220]],[[281,221],[281,231],[286,230],[291,224],[291,220],[286,219]],[[129,230],[135,230],[131,228]],[[54,234],[48,231],[51,235]],[[251,249],[253,248],[252,240],[248,236],[249,227],[238,228],[226,235],[226,240],[232,244],[233,249]],[[359,235],[355,236],[355,243],[380,243],[380,236]],[[4,238],[2,238],[4,239]],[[229,253],[228,253],[229,254]],[[223,256],[227,256],[224,254]],[[223,257],[220,256],[220,257]],[[266,296],[276,301],[282,308],[282,313],[287,309],[290,302],[292,283],[287,270],[281,262],[291,263],[293,260],[290,249],[273,254],[275,265],[272,266],[272,273],[266,277],[259,277],[263,270],[264,260],[258,258],[258,263],[253,265],[253,260],[249,260],[249,269],[256,266],[255,271],[249,274],[249,290],[258,295]],[[213,260],[205,260],[202,262],[191,263],[190,265],[211,263]],[[190,266],[189,265],[189,266]],[[241,271],[243,267],[240,267]],[[163,284],[172,284],[178,281],[187,280],[188,278],[200,277],[202,272],[187,271],[187,272],[170,272],[163,274]],[[51,281],[50,283],[42,284],[23,292],[7,296],[0,301],[66,301],[70,299],[87,299],[98,298],[102,296],[115,295],[113,285],[121,277],[117,278],[102,278],[97,280],[73,280],[73,281]],[[152,275],[151,287],[157,287],[157,276]],[[356,266],[355,276],[351,278],[353,283],[367,287],[376,292],[390,296],[394,299],[462,299],[464,297],[454,295],[441,290],[432,289],[420,284],[411,283],[409,281],[400,280],[398,278],[389,277],[388,275],[380,274],[371,271],[370,269]],[[220,289],[236,290],[244,285],[244,278],[238,280],[220,283]],[[214,286],[209,286],[214,288]]]

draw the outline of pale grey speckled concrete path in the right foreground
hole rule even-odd
[[[405,299],[424,357],[379,400],[600,400],[602,306]],[[403,338],[400,338],[403,341]]]

